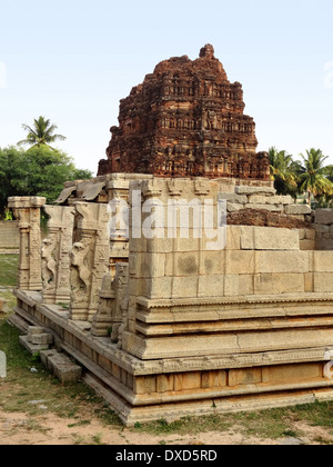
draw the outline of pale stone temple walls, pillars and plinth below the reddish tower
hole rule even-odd
[[[43,242],[44,200],[9,200],[22,245],[10,320],[49,368],[62,375],[54,352],[69,356],[65,378],[79,364],[127,425],[333,399],[333,248],[322,242],[332,211],[314,218],[263,181],[84,183],[44,208]],[[129,236],[112,200],[115,211],[129,201]],[[189,203],[222,203],[224,217],[199,236]]]

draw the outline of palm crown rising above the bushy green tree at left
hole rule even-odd
[[[47,120],[44,117],[40,117],[38,120],[34,119],[33,128],[28,125],[22,125],[23,130],[28,131],[27,139],[19,141],[18,146],[30,145],[32,147],[40,147],[42,145],[49,146],[49,143],[56,142],[58,140],[64,141],[65,137],[62,135],[54,135],[54,131],[58,129],[56,125],[51,125],[50,120]]]

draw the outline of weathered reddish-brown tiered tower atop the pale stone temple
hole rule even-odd
[[[268,155],[256,152],[255,122],[244,108],[242,85],[228,80],[212,46],[193,61],[162,61],[121,100],[99,175],[268,180]]]

